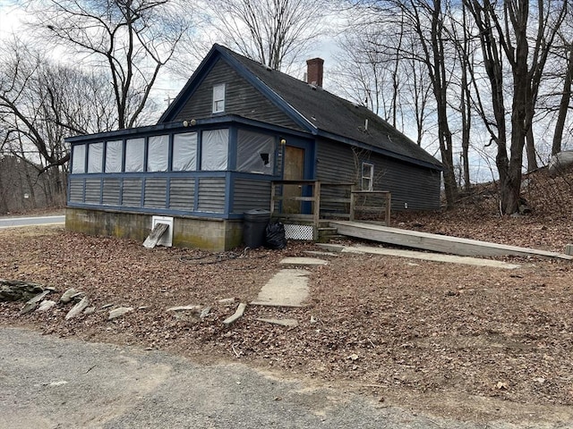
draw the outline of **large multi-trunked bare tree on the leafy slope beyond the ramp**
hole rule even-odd
[[[543,69],[565,17],[567,2],[538,0],[534,20],[529,0],[507,1],[502,7],[489,0],[464,1],[479,29],[484,66],[492,88],[495,122],[489,124],[489,129],[498,149],[496,165],[500,175],[500,208],[502,213],[512,214],[518,208],[523,150],[528,136],[529,139],[533,137],[531,128]],[[528,34],[532,21],[536,24],[533,40]],[[509,153],[503,94],[504,59],[509,63],[513,80]],[[532,143],[530,145],[533,146]],[[528,155],[535,158],[535,154]]]

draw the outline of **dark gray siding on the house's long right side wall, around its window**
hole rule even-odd
[[[329,182],[359,182],[362,162],[374,164],[374,190],[392,193],[392,209],[436,210],[440,208],[440,172],[407,164],[387,156],[357,149],[353,152],[336,142],[317,145],[316,178]]]

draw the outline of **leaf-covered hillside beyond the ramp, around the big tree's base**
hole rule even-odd
[[[488,183],[461,195],[452,211],[395,212],[392,226],[562,252],[573,243],[573,174],[551,178],[540,170],[524,177],[522,189],[528,214],[501,216],[497,183]]]

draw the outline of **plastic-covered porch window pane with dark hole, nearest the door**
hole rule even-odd
[[[257,132],[239,130],[236,169],[240,172],[272,174],[275,165],[275,139]]]

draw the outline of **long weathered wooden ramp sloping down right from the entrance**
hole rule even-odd
[[[573,260],[573,257],[562,253],[537,250],[535,248],[518,248],[488,241],[460,239],[447,235],[430,234],[390,228],[374,223],[336,221],[330,226],[337,228],[338,234],[382,243],[389,243],[406,248],[423,248],[435,252],[461,255],[465,257],[553,257]]]

